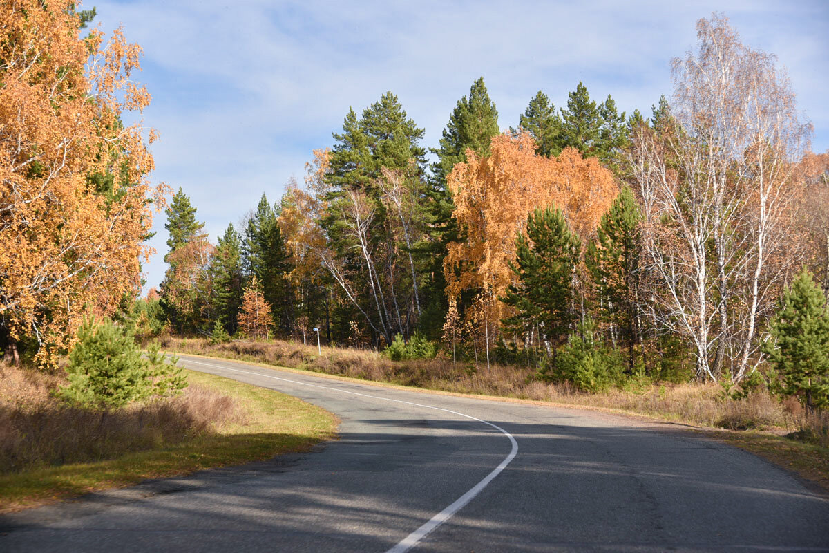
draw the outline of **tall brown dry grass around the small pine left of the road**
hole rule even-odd
[[[210,434],[245,412],[227,395],[189,386],[182,395],[104,412],[51,397],[59,376],[0,366],[0,474],[115,458]]]

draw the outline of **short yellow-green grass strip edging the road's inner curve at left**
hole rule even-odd
[[[209,434],[160,449],[4,474],[0,476],[0,513],[120,488],[146,478],[178,476],[308,451],[314,444],[336,436],[338,421],[334,415],[290,395],[196,371],[187,371],[187,378],[191,384],[240,402],[245,409],[244,419],[226,421]]]

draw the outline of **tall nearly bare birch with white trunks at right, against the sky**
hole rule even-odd
[[[794,261],[792,172],[810,127],[774,56],[744,46],[725,17],[701,19],[697,38],[672,62],[670,118],[638,125],[629,162],[652,315],[691,338],[699,378],[739,381],[762,360],[759,328]]]

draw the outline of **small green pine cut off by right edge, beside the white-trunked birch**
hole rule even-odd
[[[764,347],[783,379],[783,393],[797,395],[807,410],[829,407],[829,311],[827,299],[806,270],[783,292]]]

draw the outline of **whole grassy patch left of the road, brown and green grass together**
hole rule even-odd
[[[56,399],[65,376],[0,365],[0,512],[307,451],[336,435],[335,417],[288,395],[181,376],[180,395],[104,411]]]

